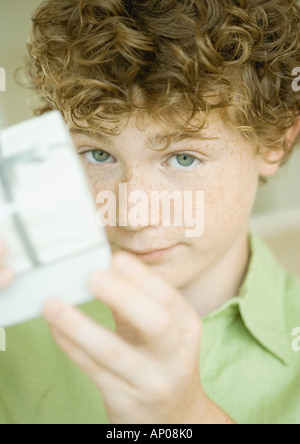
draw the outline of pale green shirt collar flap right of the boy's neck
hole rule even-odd
[[[250,233],[251,257],[237,297],[227,301],[205,319],[238,306],[249,333],[284,364],[289,363],[290,341],[284,307],[286,271],[270,248]]]

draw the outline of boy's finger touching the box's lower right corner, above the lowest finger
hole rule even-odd
[[[126,319],[151,348],[169,348],[178,340],[168,311],[128,279],[115,272],[96,272],[89,284],[93,295]]]

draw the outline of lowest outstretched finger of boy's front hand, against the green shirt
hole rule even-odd
[[[57,299],[45,305],[44,316],[52,328],[98,365],[132,385],[142,384],[142,375],[149,365],[147,359],[115,333]],[[71,351],[72,357],[80,360],[81,353],[77,351],[75,355],[74,348]]]

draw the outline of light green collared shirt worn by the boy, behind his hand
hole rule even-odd
[[[203,319],[202,383],[237,423],[300,424],[300,351],[292,349],[292,331],[300,327],[300,282],[257,236],[250,235],[250,242],[239,295]],[[94,301],[82,309],[115,328],[107,306]],[[43,319],[6,334],[1,424],[109,423],[98,389],[59,350]]]

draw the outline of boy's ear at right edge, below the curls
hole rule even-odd
[[[292,147],[300,132],[300,116],[296,117],[294,125],[291,126],[285,135],[286,143]],[[260,176],[270,177],[277,173],[281,160],[284,156],[284,149],[269,148],[261,155],[259,172]]]

